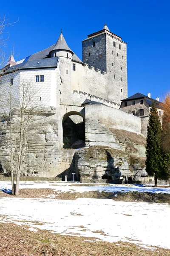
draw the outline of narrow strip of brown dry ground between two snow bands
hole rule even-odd
[[[51,195],[51,196],[50,196]],[[115,196],[116,195],[116,196]],[[54,197],[55,196],[55,197]],[[14,197],[0,191],[0,197]],[[114,201],[125,202],[148,202],[148,203],[169,203],[170,194],[150,193],[150,192],[105,192],[89,191],[89,192],[59,192],[54,189],[20,189],[20,198],[53,198],[62,200],[75,200],[77,198],[107,198]]]

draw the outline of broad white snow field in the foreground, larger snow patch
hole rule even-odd
[[[169,216],[168,204],[89,198],[74,201],[0,198],[0,221],[27,224],[33,231],[40,228],[109,242],[127,241],[143,247],[170,249]]]

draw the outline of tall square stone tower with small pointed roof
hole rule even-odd
[[[120,104],[127,97],[127,49],[105,24],[82,41],[82,61],[107,73],[107,98]]]

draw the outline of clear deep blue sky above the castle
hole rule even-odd
[[[8,0],[0,13],[18,22],[8,28],[6,53],[15,60],[56,43],[60,30],[82,59],[82,43],[106,22],[127,43],[128,96],[136,92],[161,99],[170,90],[170,1],[44,1]]]

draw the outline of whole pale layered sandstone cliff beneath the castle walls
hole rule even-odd
[[[84,125],[81,116],[76,118],[71,116],[63,122],[63,144],[64,146],[68,144],[68,148],[62,148],[59,141],[61,127],[59,128],[56,109],[51,107],[39,111],[34,119],[28,130],[22,175],[58,176],[63,180],[67,175],[68,180],[73,180],[72,173],[75,172],[77,180],[88,183],[142,181],[141,176],[144,175],[142,157],[145,157],[145,138],[142,135],[110,128],[97,119],[86,119]],[[19,148],[17,113],[13,113],[11,122],[15,167]],[[8,117],[2,117],[0,120],[1,172],[4,169],[10,171],[9,128]]]

